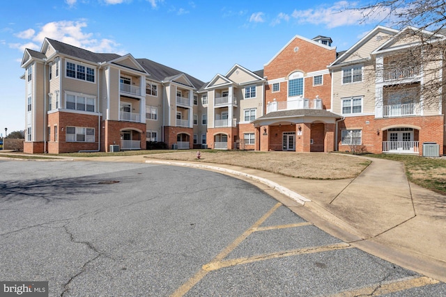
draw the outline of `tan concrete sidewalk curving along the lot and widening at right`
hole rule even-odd
[[[239,166],[143,155],[70,159],[189,166],[246,179],[352,246],[446,282],[446,196],[408,182],[400,162],[360,158],[371,160],[371,165],[355,179],[339,180],[298,179]]]

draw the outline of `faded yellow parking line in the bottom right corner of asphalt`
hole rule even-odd
[[[352,291],[344,291],[339,294],[331,295],[330,297],[353,297],[353,296],[380,296],[383,294],[390,294],[397,291],[413,289],[417,287],[424,287],[429,284],[438,284],[438,280],[422,276],[420,278],[403,278],[383,284],[376,284],[370,287],[363,287]]]

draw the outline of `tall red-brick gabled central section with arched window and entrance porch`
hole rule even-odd
[[[252,121],[255,149],[331,152],[341,116],[332,113],[332,79],[327,65],[336,59],[329,37],[295,35],[268,63],[265,114]]]

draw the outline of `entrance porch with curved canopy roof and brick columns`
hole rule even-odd
[[[253,121],[256,150],[331,152],[342,116],[323,109],[274,111]]]

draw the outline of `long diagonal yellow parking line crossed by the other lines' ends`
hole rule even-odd
[[[264,214],[261,218],[259,218],[259,220],[257,220],[256,223],[254,223],[254,225],[249,227],[248,230],[246,230],[245,232],[243,232],[243,234],[238,236],[238,238],[235,241],[233,241],[229,246],[226,246],[226,248],[224,248],[224,250],[222,250],[220,254],[218,254],[210,263],[222,261],[224,257],[229,255],[229,253],[234,248],[236,248],[242,241],[244,241],[247,238],[247,236],[249,236],[249,234],[252,234],[252,232],[254,232],[269,216],[271,216],[272,213],[274,213],[274,211],[276,211],[276,209],[278,209],[282,205],[283,205],[282,203],[277,202],[277,204],[275,204],[274,207],[272,207],[266,214]],[[187,282],[185,282],[181,287],[179,287],[174,292],[174,294],[171,295],[171,297],[183,296],[188,291],[190,291],[190,289],[192,289],[192,287],[194,287],[194,285],[197,284],[197,282],[199,282],[202,278],[204,278],[208,273],[209,273],[208,270],[201,268],[201,270],[198,273],[196,273],[192,278],[187,280]]]

